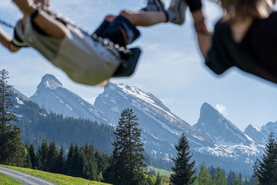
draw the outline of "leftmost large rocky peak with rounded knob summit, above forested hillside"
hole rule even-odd
[[[48,112],[74,118],[87,118],[98,123],[110,123],[99,109],[62,87],[62,83],[50,74],[42,77],[37,91],[30,100],[44,107]]]

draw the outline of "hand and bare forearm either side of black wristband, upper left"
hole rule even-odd
[[[33,1],[30,0],[12,0],[14,1],[19,9],[24,14],[24,19],[26,20],[26,17],[28,15],[31,15],[33,12],[35,12],[35,9],[37,6]],[[37,17],[34,19],[35,24],[39,26],[42,30],[44,30],[48,35],[51,37],[55,37],[57,39],[63,39],[66,37],[66,34],[69,32],[69,30],[64,26],[64,24],[60,23],[60,21],[57,21],[53,19],[53,17],[46,14],[44,11],[40,11]],[[24,25],[25,26],[24,21]]]

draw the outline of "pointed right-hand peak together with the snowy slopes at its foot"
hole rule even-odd
[[[238,161],[245,168],[251,168],[264,149],[208,103],[202,105],[199,120],[193,127],[215,143],[213,147],[194,148],[195,151]]]

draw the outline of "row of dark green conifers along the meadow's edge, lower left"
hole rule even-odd
[[[50,143],[44,139],[37,150],[33,143],[26,143],[25,147],[25,168],[100,182],[103,180],[102,172],[109,166],[109,155],[100,152],[93,144],[78,146],[77,143],[71,143],[69,150],[64,152],[62,146],[57,148],[54,139]]]

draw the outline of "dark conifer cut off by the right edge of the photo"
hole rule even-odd
[[[277,182],[277,143],[274,134],[271,132],[267,139],[265,151],[261,160],[257,159],[254,171],[260,184],[276,184]]]

